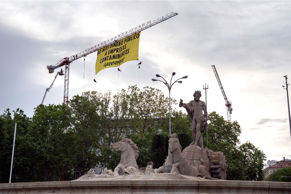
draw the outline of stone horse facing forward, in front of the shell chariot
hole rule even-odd
[[[188,160],[181,153],[182,148],[179,143],[178,135],[173,133],[169,135],[168,157],[165,165],[155,169],[156,173],[177,173],[181,175],[207,177],[211,179],[210,174],[205,169],[205,166],[191,166]]]

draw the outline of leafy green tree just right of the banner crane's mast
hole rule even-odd
[[[76,148],[74,168],[77,168],[81,175],[102,161],[103,158],[99,155],[101,154],[101,141],[103,140],[102,144],[108,142],[108,139],[105,138],[106,133],[109,134],[108,138],[111,141],[110,99],[110,92],[103,95],[97,91],[88,91],[82,93],[81,96],[73,96],[69,101],[73,113]]]

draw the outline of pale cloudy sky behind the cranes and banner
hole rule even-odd
[[[215,65],[232,102],[231,121],[241,126],[241,143],[250,141],[267,160],[290,159],[282,85],[283,76],[291,78],[291,1],[0,1],[0,114],[21,108],[32,117],[60,71],[49,74],[47,65],[170,12],[178,15],[141,32],[140,69],[130,61],[122,72],[107,68],[95,75],[97,53],[86,57],[85,68],[83,58],[71,63],[69,99],[131,85],[168,95],[151,79],[158,73],[169,81],[176,72],[174,78],[188,78],[175,83],[172,98],[188,102],[200,90],[205,101],[206,83],[208,112],[227,120]],[[44,104],[62,103],[63,90],[64,76],[58,76]]]

